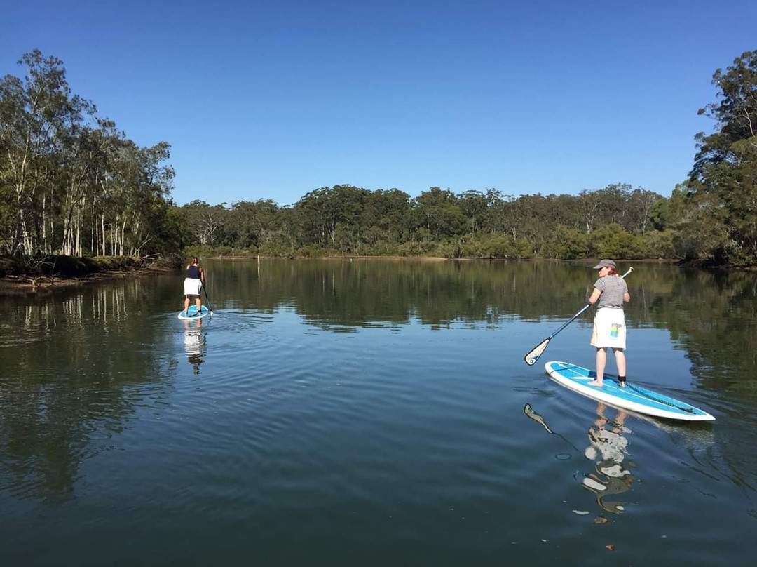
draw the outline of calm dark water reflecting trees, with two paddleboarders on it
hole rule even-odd
[[[181,274],[0,297],[0,565],[751,563],[753,274],[628,278],[629,380],[693,426],[550,381],[590,314],[523,362],[586,265],[204,267],[190,324]]]

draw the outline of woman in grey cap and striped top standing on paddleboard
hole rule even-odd
[[[631,301],[625,280],[615,271],[615,262],[601,260],[592,269],[600,271],[600,278],[594,282],[594,290],[589,297],[593,305],[597,303],[594,328],[591,332],[591,346],[597,347],[597,378],[590,386],[602,387],[607,362],[607,349],[615,353],[618,366],[618,382],[625,387],[625,313],[623,304]]]

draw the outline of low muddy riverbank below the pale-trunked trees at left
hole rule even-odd
[[[182,258],[158,256],[44,256],[17,258],[0,256],[0,295],[6,293],[55,292],[94,281],[114,280],[145,274],[176,271]]]

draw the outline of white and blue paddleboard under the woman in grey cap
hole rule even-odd
[[[640,387],[629,382],[625,388],[618,385],[617,379],[605,375],[602,387],[589,386],[597,373],[588,368],[569,362],[547,362],[544,365],[547,374],[558,384],[570,388],[587,398],[596,399],[609,406],[629,409],[657,418],[678,419],[682,421],[712,421],[715,418],[699,408],[674,399],[662,393]]]

